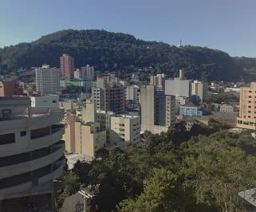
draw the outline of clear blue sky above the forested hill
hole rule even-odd
[[[61,29],[106,29],[148,41],[256,57],[255,0],[0,0],[0,47]]]

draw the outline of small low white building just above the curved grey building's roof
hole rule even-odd
[[[59,108],[59,96],[30,96],[32,108]]]

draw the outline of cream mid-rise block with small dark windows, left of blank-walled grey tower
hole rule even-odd
[[[111,116],[110,142],[140,143],[140,116]]]

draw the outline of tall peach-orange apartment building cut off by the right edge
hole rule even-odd
[[[256,130],[256,82],[240,90],[240,108],[236,126]]]

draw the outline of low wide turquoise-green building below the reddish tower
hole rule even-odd
[[[82,80],[82,79],[69,79],[69,78],[62,78],[60,80],[61,89],[65,89],[69,86],[80,87],[83,88],[85,92],[90,92],[92,88],[92,81],[91,80]]]

